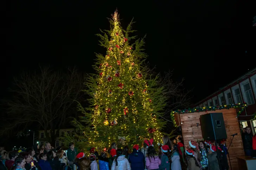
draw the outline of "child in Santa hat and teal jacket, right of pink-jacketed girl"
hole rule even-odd
[[[168,145],[164,145],[161,147],[161,165],[159,166],[159,170],[170,170],[170,162],[171,162],[171,153]]]

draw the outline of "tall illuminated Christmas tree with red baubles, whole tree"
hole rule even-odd
[[[97,54],[97,74],[86,80],[84,91],[91,96],[89,108],[78,108],[84,114],[72,124],[81,132],[77,145],[81,149],[108,148],[112,142],[118,147],[141,144],[145,138],[162,143],[165,125],[164,107],[168,96],[165,86],[159,86],[159,76],[151,74],[144,63],[144,40],[134,40],[132,23],[123,30],[117,11],[110,20],[111,30],[100,36],[100,45],[107,48],[105,56]],[[124,33],[125,35],[124,35]],[[129,44],[129,41],[134,41]],[[70,138],[71,140],[71,138]]]

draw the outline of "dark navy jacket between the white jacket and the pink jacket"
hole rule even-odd
[[[144,170],[145,169],[145,157],[140,150],[129,154],[128,161],[131,163],[132,170]]]

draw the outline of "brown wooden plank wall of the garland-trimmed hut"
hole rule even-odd
[[[200,123],[200,115],[208,114],[208,113],[223,113],[223,118],[226,127],[226,133],[228,138],[226,139],[227,147],[230,144],[232,139],[232,134],[238,133],[232,141],[232,144],[229,148],[229,156],[230,162],[232,166],[232,170],[238,170],[238,163],[237,157],[244,156],[243,151],[243,143],[242,137],[239,130],[238,120],[236,118],[236,110],[235,109],[222,109],[216,111],[207,111],[207,112],[199,112],[199,113],[187,113],[187,114],[177,114],[175,115],[175,121],[177,124],[180,121],[182,122],[182,135],[184,140],[184,145],[187,147],[188,141],[194,140],[197,141],[198,139],[201,140],[203,138],[202,130],[201,130],[201,123]],[[178,120],[180,118],[180,120]],[[198,123],[198,127],[197,127]],[[229,161],[229,160],[228,160]]]

